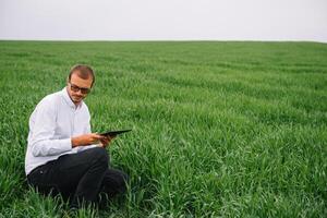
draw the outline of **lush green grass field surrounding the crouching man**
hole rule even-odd
[[[28,189],[28,118],[87,63],[94,131],[131,177],[102,210]],[[326,217],[327,45],[0,41],[0,217]]]

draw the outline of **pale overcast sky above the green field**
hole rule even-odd
[[[0,0],[0,39],[327,43],[327,0]]]

